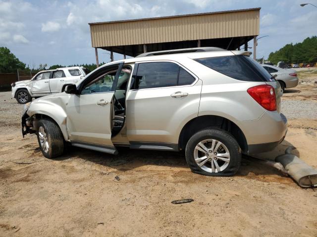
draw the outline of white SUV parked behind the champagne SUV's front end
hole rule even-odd
[[[59,93],[66,85],[74,84],[83,79],[89,70],[83,67],[57,68],[41,71],[31,80],[16,81],[11,84],[11,96],[20,104],[28,103],[34,97]]]

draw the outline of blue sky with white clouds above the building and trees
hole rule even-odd
[[[317,0],[309,0],[317,5]],[[317,35],[317,8],[305,0],[0,0],[0,46],[39,64],[96,63],[88,23],[261,7],[257,58]],[[253,47],[253,40],[249,41]],[[253,49],[249,49],[252,51]],[[99,62],[109,62],[98,49]],[[115,60],[123,55],[114,54]]]

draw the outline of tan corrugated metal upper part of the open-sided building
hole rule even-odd
[[[136,48],[137,45],[143,44],[157,44],[159,46],[162,43],[190,42],[193,40],[249,39],[259,35],[260,9],[250,8],[90,23],[92,47],[107,49],[111,47],[113,51],[123,52],[124,48],[129,45],[135,45],[133,47]],[[204,46],[217,45],[208,44]],[[174,46],[171,47],[174,48]],[[165,47],[162,47],[162,49],[165,49]],[[137,53],[133,53],[133,55],[135,54]]]

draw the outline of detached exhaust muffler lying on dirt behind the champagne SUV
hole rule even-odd
[[[260,163],[278,169],[284,175],[289,175],[302,188],[317,187],[317,170],[292,154],[291,151],[294,149],[296,148],[293,146],[288,147],[285,150],[285,154],[279,155],[275,158],[275,162],[259,158],[255,159]]]

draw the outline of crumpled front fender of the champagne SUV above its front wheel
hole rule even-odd
[[[52,118],[59,126],[65,141],[69,140],[67,127],[66,127],[66,112],[65,112],[65,101],[63,97],[43,98],[35,100],[31,103],[28,111],[28,116],[34,115],[46,115]]]

